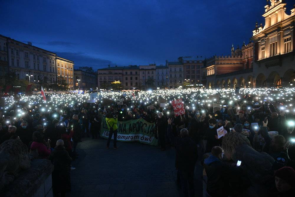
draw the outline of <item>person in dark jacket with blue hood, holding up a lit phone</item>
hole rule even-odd
[[[230,167],[222,161],[223,149],[214,146],[211,155],[204,160],[204,168],[207,174],[207,196],[227,197],[230,195]]]

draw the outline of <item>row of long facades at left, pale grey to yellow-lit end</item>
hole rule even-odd
[[[25,79],[31,83],[46,86],[57,83],[57,62],[63,62],[70,66],[67,68],[66,78],[70,89],[73,89],[73,66],[74,62],[58,57],[56,53],[33,46],[32,43],[22,43],[12,38],[0,35],[0,82],[4,77],[1,74],[15,72],[17,79]],[[2,71],[1,72],[1,68]],[[29,77],[30,76],[30,77]],[[38,88],[40,88],[38,87]]]

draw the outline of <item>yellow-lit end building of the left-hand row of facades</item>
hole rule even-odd
[[[73,77],[74,77],[74,62],[65,58],[56,57],[56,74],[57,79],[61,77],[69,84],[69,89],[73,90]]]

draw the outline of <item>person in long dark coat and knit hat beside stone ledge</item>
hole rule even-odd
[[[56,141],[53,152],[48,157],[53,162],[54,170],[52,172],[52,188],[54,196],[65,196],[65,193],[71,192],[71,157],[64,147],[62,139]]]

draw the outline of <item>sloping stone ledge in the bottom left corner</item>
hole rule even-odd
[[[53,197],[52,171],[50,160],[34,159],[29,170],[19,172],[19,176],[0,191],[1,196]]]

